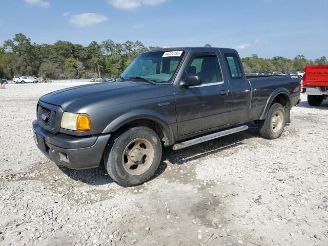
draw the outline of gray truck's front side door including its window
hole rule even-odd
[[[200,77],[200,86],[176,89],[176,118],[178,136],[211,131],[229,124],[232,98],[228,81],[223,80],[217,53],[194,54],[186,69],[187,74]]]

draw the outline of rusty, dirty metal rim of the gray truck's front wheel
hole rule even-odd
[[[123,152],[123,167],[131,175],[141,175],[152,165],[154,154],[154,147],[150,141],[145,138],[136,138],[126,146]]]

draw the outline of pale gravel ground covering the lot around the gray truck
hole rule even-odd
[[[257,127],[163,150],[156,177],[122,188],[58,168],[32,137],[37,99],[74,84],[0,90],[0,245],[328,245],[328,101],[306,97],[276,140]]]

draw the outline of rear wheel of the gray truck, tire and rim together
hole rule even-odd
[[[264,138],[275,139],[281,136],[286,125],[286,112],[281,104],[270,107],[267,118],[258,121],[260,135]]]

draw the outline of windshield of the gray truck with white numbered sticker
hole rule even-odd
[[[155,83],[171,83],[184,51],[154,51],[135,58],[121,74],[121,79],[149,79]]]

